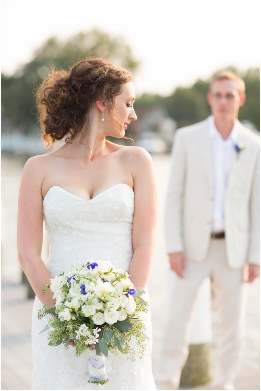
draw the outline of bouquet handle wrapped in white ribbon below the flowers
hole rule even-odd
[[[108,374],[105,364],[105,355],[97,355],[95,349],[89,353],[89,377],[88,383],[105,384],[108,381]]]

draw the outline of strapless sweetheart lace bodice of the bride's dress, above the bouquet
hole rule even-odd
[[[132,258],[134,192],[120,183],[85,201],[59,186],[43,201],[50,241],[46,266],[54,278],[75,261],[110,260],[129,269]]]

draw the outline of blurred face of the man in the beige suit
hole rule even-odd
[[[207,94],[214,117],[220,121],[232,121],[238,118],[238,110],[245,102],[245,94],[238,92],[235,81],[216,80]]]

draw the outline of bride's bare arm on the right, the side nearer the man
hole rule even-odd
[[[134,216],[132,229],[133,257],[129,274],[132,283],[141,289],[147,284],[152,263],[157,226],[157,188],[152,159],[148,152],[136,147],[132,160],[134,180]]]

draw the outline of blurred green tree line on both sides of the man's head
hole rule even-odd
[[[247,99],[245,105],[240,108],[239,119],[250,120],[257,129],[260,130],[260,70],[249,69],[245,74],[241,74],[236,68],[227,68],[240,75],[246,84]],[[137,111],[140,109],[164,106],[170,117],[177,121],[177,126],[187,126],[204,120],[211,114],[207,104],[207,91],[209,81],[198,80],[193,86],[184,88],[178,87],[168,97],[160,95],[143,94],[139,97],[134,106]],[[135,134],[135,127],[132,124],[130,133]]]

